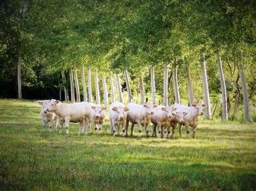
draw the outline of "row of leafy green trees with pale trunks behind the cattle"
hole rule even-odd
[[[58,87],[64,84],[65,98],[70,88],[74,101],[72,77],[75,77],[79,101],[78,68],[84,100],[87,97],[84,68],[95,70],[95,81],[98,81],[96,69],[104,76],[124,73],[125,83],[119,82],[117,87],[127,90],[129,97],[140,92],[140,100],[144,100],[143,93],[151,92],[152,100],[160,96],[161,102],[163,96],[165,105],[186,98],[190,103],[203,100],[208,105],[206,118],[211,117],[211,103],[221,93],[222,117],[227,120],[231,103],[237,108],[242,92],[244,119],[250,121],[248,100],[254,102],[255,94],[255,77],[250,73],[254,62],[254,4],[251,1],[6,1],[1,4],[4,71],[1,81],[16,76],[21,98],[21,84],[42,87],[45,84],[39,81],[40,77],[51,79],[50,76],[62,74],[60,83],[50,84]],[[69,70],[69,86],[64,70]],[[154,73],[156,81],[151,80]],[[139,81],[139,87],[131,82],[130,88],[128,74],[132,81]],[[89,76],[87,70],[91,80]],[[110,81],[102,80],[104,97],[107,87],[113,89],[111,79],[112,76]],[[120,81],[118,75],[116,81]],[[144,82],[151,86],[144,87]],[[95,92],[100,91],[97,84]],[[113,94],[111,91],[111,98]],[[92,101],[90,86],[88,95]],[[99,103],[100,96],[95,95]]]

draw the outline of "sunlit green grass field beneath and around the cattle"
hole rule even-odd
[[[0,100],[0,190],[256,189],[256,125],[201,121],[197,137],[42,132],[41,107]],[[144,131],[143,131],[144,133]],[[183,129],[185,135],[185,129]]]

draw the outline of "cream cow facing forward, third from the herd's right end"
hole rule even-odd
[[[172,111],[176,108],[165,107],[164,105],[159,105],[157,108],[153,109],[154,114],[151,116],[150,121],[152,125],[152,137],[156,137],[156,126],[158,128],[158,137],[163,137],[163,130],[167,128],[170,124],[172,118]]]

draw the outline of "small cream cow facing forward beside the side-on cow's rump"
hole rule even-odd
[[[91,116],[90,116],[90,123],[89,127],[91,129],[91,123],[95,126],[95,131],[100,131],[102,129],[102,125],[105,120],[105,110],[106,107],[98,106],[94,103],[88,103],[91,105]]]

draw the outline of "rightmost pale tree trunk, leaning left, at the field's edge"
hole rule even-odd
[[[244,100],[244,120],[245,122],[251,122],[251,116],[249,111],[249,98],[248,92],[246,87],[246,80],[245,80],[245,72],[244,68],[242,68],[242,52],[238,52],[238,61],[239,61],[239,74],[241,78],[242,84],[242,99]]]

